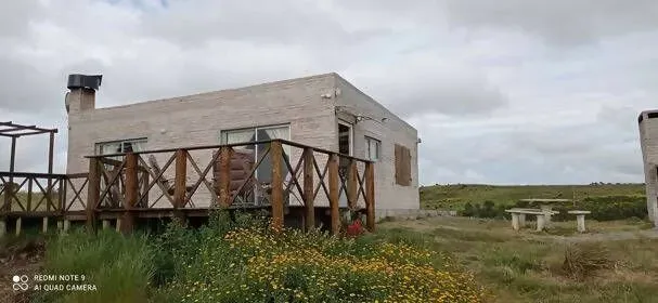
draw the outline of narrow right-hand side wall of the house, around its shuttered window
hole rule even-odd
[[[339,92],[338,118],[353,123],[354,156],[366,157],[366,135],[382,142],[379,160],[375,164],[377,216],[385,215],[389,209],[420,209],[417,131],[345,79],[337,77],[336,83]],[[376,121],[363,119],[357,122],[354,116],[359,115]],[[382,122],[382,118],[387,119]],[[396,184],[395,144],[411,150],[411,186]]]

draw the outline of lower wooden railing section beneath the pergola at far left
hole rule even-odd
[[[80,196],[86,185],[87,173],[0,172],[0,215],[53,216],[76,205],[86,209]]]

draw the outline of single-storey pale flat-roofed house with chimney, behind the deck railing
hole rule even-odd
[[[376,216],[420,208],[416,130],[337,74],[106,108],[94,89],[69,89],[69,174],[88,171],[88,155],[284,139],[375,161]]]

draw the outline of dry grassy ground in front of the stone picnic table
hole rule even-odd
[[[593,234],[641,232],[642,221],[589,222]],[[567,238],[555,235],[567,234]],[[440,218],[386,222],[377,237],[410,238],[452,258],[493,291],[495,302],[656,302],[658,239],[597,241],[566,230],[514,232],[509,222]]]

